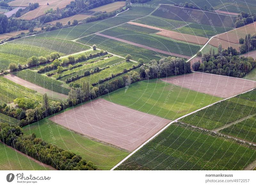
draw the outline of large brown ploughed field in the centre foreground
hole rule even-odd
[[[170,122],[104,99],[78,106],[50,120],[129,151],[135,150]]]

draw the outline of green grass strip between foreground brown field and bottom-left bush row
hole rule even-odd
[[[42,138],[48,143],[74,152],[87,161],[92,161],[102,170],[110,170],[129,154],[129,152],[76,134],[47,119],[40,120],[23,129],[25,135],[35,133],[36,137]]]

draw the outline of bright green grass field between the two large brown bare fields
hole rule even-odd
[[[103,98],[129,108],[174,120],[221,98],[181,88],[161,80],[140,81]]]

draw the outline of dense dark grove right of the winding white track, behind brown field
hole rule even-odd
[[[236,49],[228,47],[218,54],[204,54],[203,63],[196,62],[194,70],[200,70],[211,74],[228,75],[232,77],[244,77],[256,66],[252,57],[240,57]]]

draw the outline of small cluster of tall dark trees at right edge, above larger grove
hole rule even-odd
[[[248,34],[245,36],[245,38],[240,38],[239,43],[241,44],[240,46],[240,52],[241,54],[244,54],[246,52],[249,52],[251,50],[256,49],[256,34]]]

